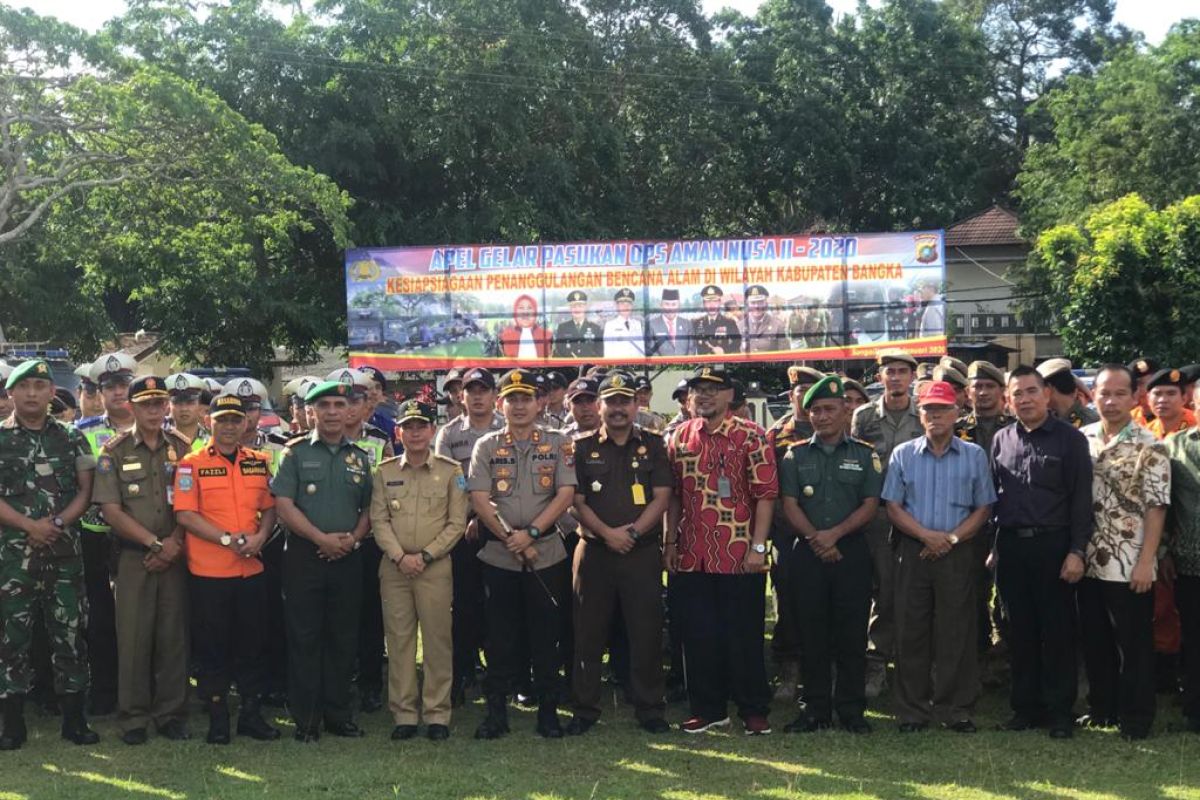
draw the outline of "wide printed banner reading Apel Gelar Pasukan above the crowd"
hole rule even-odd
[[[943,231],[346,252],[350,363],[383,369],[946,353]]]

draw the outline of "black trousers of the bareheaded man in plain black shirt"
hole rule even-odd
[[[996,585],[1009,618],[1013,712],[1049,724],[1073,721],[1078,692],[1075,587],[1058,577],[1066,530],[1027,539],[1001,530]]]

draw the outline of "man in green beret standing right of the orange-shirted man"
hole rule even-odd
[[[288,627],[288,706],[299,741],[324,718],[335,736],[362,730],[350,714],[362,591],[360,547],[371,529],[371,458],[348,438],[349,387],[326,380],[305,397],[312,433],[288,441],[271,481],[288,529],[283,614]]]

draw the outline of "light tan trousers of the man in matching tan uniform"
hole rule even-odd
[[[415,578],[406,578],[390,559],[379,563],[379,594],[388,638],[388,706],[396,724],[450,724],[454,678],[451,604],[454,571],[440,558]],[[425,686],[418,705],[416,628],[421,630]],[[422,710],[424,709],[424,714]]]

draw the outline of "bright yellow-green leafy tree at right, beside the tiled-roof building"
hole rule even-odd
[[[1200,350],[1200,196],[1162,211],[1130,194],[1038,237],[1036,269],[1064,306],[1063,347],[1086,363],[1187,363]]]

